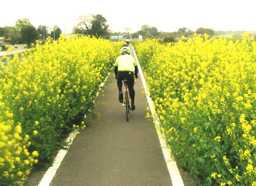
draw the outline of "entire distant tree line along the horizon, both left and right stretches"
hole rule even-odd
[[[123,35],[126,39],[137,39],[139,35],[143,39],[147,38],[159,38],[166,42],[176,42],[181,36],[187,38],[192,37],[194,33],[196,34],[208,34],[209,36],[214,36],[219,34],[220,31],[214,31],[212,28],[197,28],[194,32],[186,27],[179,28],[176,32],[163,32],[158,31],[156,27],[151,27],[146,24],[142,25],[141,30],[131,33],[131,28],[125,28],[125,32],[112,32],[109,30],[109,25],[106,23],[107,20],[101,14],[88,14],[79,16],[77,19],[77,25],[73,27],[72,34],[90,35],[96,36],[96,38],[106,38],[110,36]],[[30,23],[28,19],[18,19],[15,26],[0,27],[0,36],[4,37],[5,43],[10,44],[28,44],[35,43],[36,40],[44,41],[48,36],[54,40],[58,39],[61,34],[61,29],[55,26],[52,30],[49,27],[39,25],[35,28]]]

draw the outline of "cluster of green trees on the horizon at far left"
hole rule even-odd
[[[53,39],[60,37],[61,30],[55,26],[53,30],[48,29],[47,26],[39,25],[35,28],[30,20],[18,19],[15,26],[0,27],[0,37],[3,37],[5,44],[27,44],[30,46],[36,40],[44,41],[48,36]]]

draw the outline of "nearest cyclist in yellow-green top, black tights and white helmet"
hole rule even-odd
[[[123,102],[122,80],[127,78],[127,85],[131,96],[131,110],[135,110],[134,105],[134,76],[138,78],[138,67],[136,60],[131,56],[130,48],[122,47],[120,49],[121,56],[118,56],[114,64],[115,78],[117,79],[117,87],[119,92],[119,102]]]

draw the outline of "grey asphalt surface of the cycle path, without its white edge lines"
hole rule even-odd
[[[154,123],[145,118],[148,103],[141,78],[134,85],[136,109],[126,121],[118,101],[114,73],[110,73],[95,103],[51,181],[51,186],[172,186]],[[38,185],[43,171],[25,185]],[[191,184],[181,171],[185,185]],[[175,185],[173,185],[175,186]]]

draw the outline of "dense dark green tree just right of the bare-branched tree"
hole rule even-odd
[[[97,38],[109,36],[108,34],[108,24],[106,24],[106,19],[104,16],[97,14],[93,16],[92,28],[90,28],[90,35],[94,35]]]

